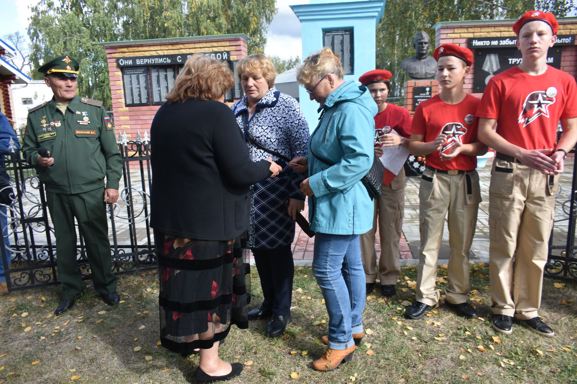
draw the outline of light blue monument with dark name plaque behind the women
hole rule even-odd
[[[308,4],[290,7],[301,21],[303,59],[329,47],[339,54],[345,80],[358,81],[359,76],[375,69],[375,29],[385,0],[309,0]],[[312,131],[319,122],[319,104],[310,101],[302,86],[299,98]]]

